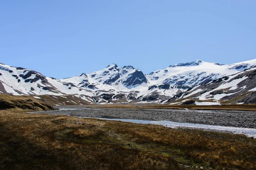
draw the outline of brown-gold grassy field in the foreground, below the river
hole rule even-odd
[[[0,111],[0,169],[256,169],[256,139]]]

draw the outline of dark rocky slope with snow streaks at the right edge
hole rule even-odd
[[[209,80],[188,89],[168,102],[171,104],[195,103],[196,105],[256,103],[256,66],[237,74]],[[177,103],[177,101],[180,101]],[[202,102],[207,101],[207,102]]]

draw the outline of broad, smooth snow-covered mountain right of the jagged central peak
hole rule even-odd
[[[170,65],[164,70],[157,70],[147,75],[147,79],[151,84],[169,84],[195,86],[210,79],[218,79],[225,75],[236,74],[239,71],[253,67],[256,60],[240,62],[232,65],[221,65],[212,62],[203,62],[196,60],[195,62],[179,63]]]

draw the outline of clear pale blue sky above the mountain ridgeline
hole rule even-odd
[[[254,0],[0,1],[0,62],[48,77],[255,58]]]

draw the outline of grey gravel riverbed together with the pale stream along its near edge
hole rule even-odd
[[[188,127],[203,130],[239,133],[256,138],[256,112],[251,111],[191,111],[170,109],[121,109],[59,107],[58,111],[45,113],[69,115],[113,121],[163,125],[166,127]],[[248,128],[250,127],[250,128]]]

